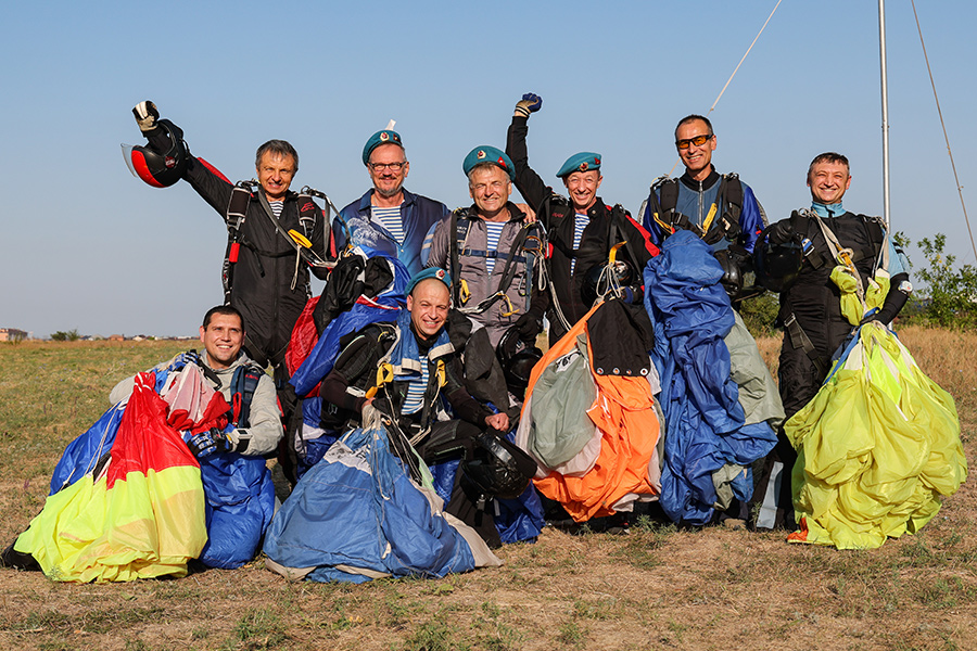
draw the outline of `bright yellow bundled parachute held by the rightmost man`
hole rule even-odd
[[[817,395],[784,425],[798,452],[791,485],[800,526],[787,540],[872,549],[929,522],[966,478],[967,461],[953,398],[894,332],[864,319],[889,291],[887,261],[864,286],[829,230],[825,237],[839,263],[832,281],[841,312],[857,329]]]

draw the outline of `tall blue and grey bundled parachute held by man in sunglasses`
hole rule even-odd
[[[750,499],[751,465],[773,449],[784,419],[723,273],[712,247],[684,230],[644,271],[665,422],[660,502],[674,522],[691,525]]]

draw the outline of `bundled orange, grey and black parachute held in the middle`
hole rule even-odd
[[[650,329],[619,298],[591,308],[535,365],[516,444],[544,496],[578,523],[659,492]]]

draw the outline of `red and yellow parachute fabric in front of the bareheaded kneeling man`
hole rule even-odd
[[[51,495],[17,538],[14,549],[31,554],[50,578],[183,576],[206,542],[200,467],[167,424],[155,381],[153,373],[137,376],[99,462]]]

